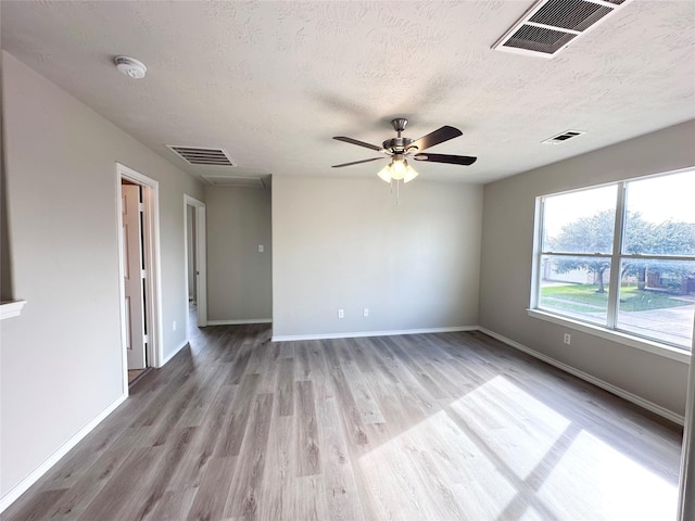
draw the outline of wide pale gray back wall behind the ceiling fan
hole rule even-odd
[[[274,335],[478,323],[482,187],[422,177],[273,179]]]

